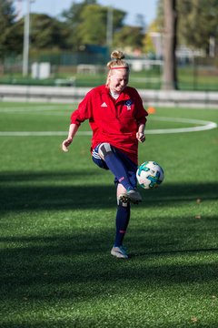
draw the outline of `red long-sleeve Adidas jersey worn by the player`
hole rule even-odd
[[[145,124],[148,113],[134,87],[125,87],[114,100],[105,86],[94,87],[74,110],[71,123],[80,125],[89,119],[93,130],[91,151],[99,143],[108,142],[138,163],[136,132]]]

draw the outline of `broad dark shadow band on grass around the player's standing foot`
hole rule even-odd
[[[117,288],[122,290],[123,283],[144,283],[148,286],[161,283],[170,286],[173,283],[217,280],[218,262],[206,256],[204,261],[202,258],[203,253],[215,255],[217,248],[183,250],[185,236],[173,227],[168,238],[175,235],[176,243],[172,242],[168,251],[160,251],[160,232],[161,229],[157,229],[155,236],[151,233],[150,240],[146,241],[146,244],[153,245],[153,251],[138,253],[128,261],[114,259],[110,249],[105,249],[109,238],[108,231],[103,229],[98,233],[89,231],[86,236],[72,231],[68,236],[1,238],[1,242],[13,245],[1,251],[4,263],[1,268],[2,298],[85,298],[100,295],[98,288],[90,292],[87,288],[90,283],[99,287],[104,284],[106,287],[108,283],[113,286],[121,284]],[[143,246],[143,237],[140,238],[139,243]],[[105,292],[104,289],[102,292]]]

